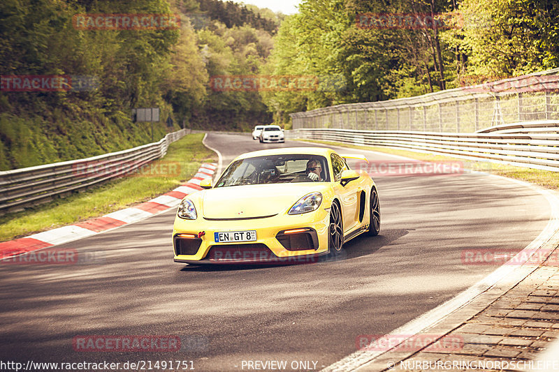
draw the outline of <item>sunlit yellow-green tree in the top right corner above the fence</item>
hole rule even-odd
[[[464,27],[451,35],[467,55],[467,73],[513,76],[559,66],[559,3],[463,0]]]

